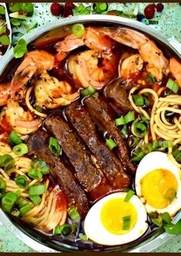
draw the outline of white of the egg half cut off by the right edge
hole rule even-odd
[[[169,170],[176,177],[176,180],[178,183],[178,191],[176,194],[176,198],[173,200],[172,203],[170,203],[167,207],[163,209],[157,209],[149,206],[149,204],[146,203],[146,200],[144,199],[141,193],[141,185],[140,185],[141,179],[144,176],[146,176],[147,173],[152,172],[155,169]],[[179,177],[179,168],[169,160],[169,157],[166,153],[151,152],[147,154],[141,160],[141,162],[139,162],[139,166],[136,171],[135,183],[136,183],[136,194],[137,196],[139,196],[140,200],[142,200],[142,203],[145,204],[146,211],[148,213],[154,212],[154,211],[156,211],[157,213],[167,212],[171,217],[173,217],[181,209],[181,182]]]

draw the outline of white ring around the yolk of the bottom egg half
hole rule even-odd
[[[126,234],[116,235],[110,233],[103,226],[100,216],[104,204],[108,200],[111,200],[113,198],[125,198],[125,196],[126,192],[112,193],[109,196],[106,196],[99,200],[89,210],[89,213],[85,217],[84,230],[86,236],[90,240],[96,242],[97,244],[119,245],[134,241],[146,232],[148,228],[146,209],[136,195],[133,195],[132,198],[129,200],[129,202],[132,203],[137,211],[137,222],[132,230],[130,230]]]

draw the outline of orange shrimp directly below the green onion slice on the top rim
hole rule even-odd
[[[59,62],[65,59],[73,49],[80,46],[87,46],[89,49],[99,49],[100,53],[112,53],[114,41],[108,36],[97,31],[95,28],[89,27],[85,29],[82,36],[74,36],[73,34],[66,36],[64,40],[55,44],[58,51],[55,58]]]

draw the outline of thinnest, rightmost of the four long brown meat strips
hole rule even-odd
[[[116,127],[114,120],[109,114],[109,106],[106,101],[96,97],[87,97],[84,100],[84,104],[89,113],[92,115],[92,118],[95,118],[96,121],[98,121],[102,127],[108,131],[109,136],[115,139],[117,144],[117,152],[119,159],[122,161],[122,164],[129,172],[135,173],[136,167],[133,165],[129,158],[126,142],[122,138],[119,129]]]

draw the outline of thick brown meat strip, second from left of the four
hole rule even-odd
[[[96,168],[91,154],[85,149],[85,145],[80,142],[80,138],[75,135],[68,123],[62,119],[61,114],[53,114],[48,118],[45,121],[45,127],[62,145],[63,152],[75,169],[79,184],[88,192],[95,189],[104,178],[103,173]]]

